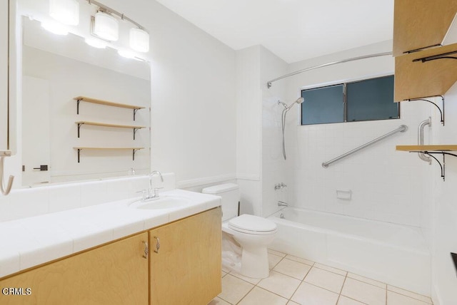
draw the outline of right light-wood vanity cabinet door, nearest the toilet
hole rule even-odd
[[[152,229],[149,244],[151,304],[202,305],[221,293],[219,207]]]

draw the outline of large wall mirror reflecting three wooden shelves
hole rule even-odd
[[[31,1],[18,3],[24,15]],[[74,33],[50,33],[26,15],[16,23],[22,30],[22,185],[149,172],[149,63],[119,56],[114,48],[89,46]],[[141,109],[134,115],[131,108],[82,100],[78,114],[79,96]]]

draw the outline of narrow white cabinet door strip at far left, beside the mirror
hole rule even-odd
[[[8,5],[0,1],[0,150],[8,149]]]

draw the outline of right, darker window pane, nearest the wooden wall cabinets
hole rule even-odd
[[[373,78],[346,85],[348,122],[399,118],[393,103],[393,76]]]

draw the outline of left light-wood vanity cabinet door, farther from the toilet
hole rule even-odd
[[[148,304],[147,233],[76,254],[0,281],[0,304]]]

